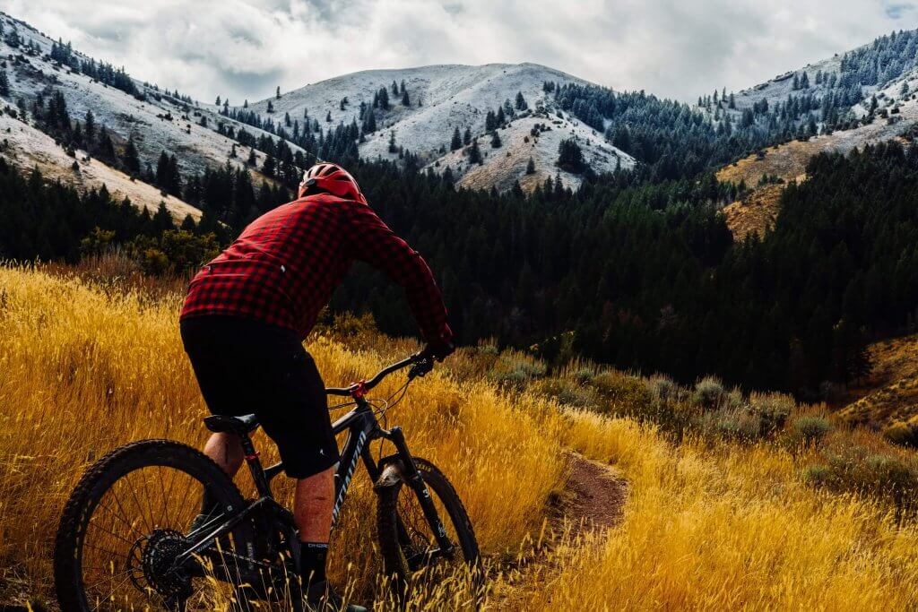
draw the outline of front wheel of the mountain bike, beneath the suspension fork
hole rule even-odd
[[[379,494],[377,534],[386,574],[400,599],[428,595],[428,586],[450,581],[467,589],[472,600],[483,595],[478,542],[462,500],[446,476],[431,462],[414,458],[431,493],[446,535],[453,543],[453,558],[439,553],[433,529],[421,510],[418,494],[403,482]]]

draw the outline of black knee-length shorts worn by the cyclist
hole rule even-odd
[[[339,461],[325,385],[295,331],[222,316],[186,318],[181,329],[212,414],[256,414],[291,478]]]

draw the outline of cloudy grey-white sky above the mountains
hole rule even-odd
[[[345,72],[534,61],[620,90],[738,90],[918,27],[907,0],[4,0],[135,77],[261,99]]]

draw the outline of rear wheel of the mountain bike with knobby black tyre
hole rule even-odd
[[[218,508],[208,529],[245,504],[215,462],[178,442],[134,442],[95,462],[73,490],[55,540],[61,609],[204,610],[229,601],[232,587],[207,578],[213,562],[198,557],[175,564],[193,541],[185,536],[205,490]],[[229,560],[220,563],[224,577],[234,566],[239,570],[235,555],[245,551],[236,547],[252,541],[251,529],[242,523],[219,540],[220,554]]]

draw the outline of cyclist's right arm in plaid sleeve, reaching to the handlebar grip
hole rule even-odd
[[[348,220],[351,226],[348,242],[354,259],[366,261],[402,286],[411,314],[431,346],[449,345],[453,331],[446,322],[446,306],[427,262],[369,206],[350,207]]]

